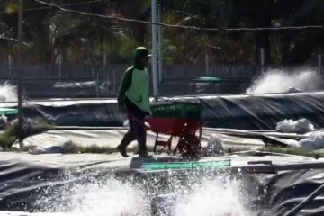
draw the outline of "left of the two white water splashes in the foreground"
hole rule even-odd
[[[40,201],[45,211],[62,211],[59,208],[66,208],[64,205],[70,209],[64,214],[68,216],[134,216],[147,215],[148,211],[148,202],[143,193],[130,184],[122,184],[114,179],[77,184],[57,196],[61,197],[56,197],[56,202],[48,202],[46,197]],[[70,203],[62,203],[66,198]],[[49,210],[50,207],[53,209]]]

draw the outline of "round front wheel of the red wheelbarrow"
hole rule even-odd
[[[196,157],[200,150],[200,140],[194,135],[185,135],[179,139],[177,149],[184,158]]]

